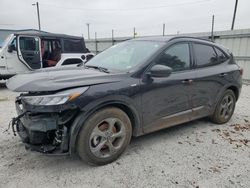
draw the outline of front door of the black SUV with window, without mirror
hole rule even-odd
[[[190,45],[170,46],[153,64],[169,66],[173,72],[168,77],[142,79],[145,133],[186,122],[192,115],[190,93],[195,73],[191,69]]]

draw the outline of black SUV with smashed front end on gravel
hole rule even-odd
[[[28,148],[97,165],[117,159],[132,136],[206,116],[226,123],[241,85],[227,49],[191,37],[133,39],[78,67],[7,82],[22,92],[12,126]]]

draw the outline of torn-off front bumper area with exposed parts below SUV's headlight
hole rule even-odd
[[[77,113],[76,107],[68,108],[36,108],[27,106],[17,97],[18,117],[13,119],[13,131],[18,133],[27,149],[66,155],[69,153],[70,126]]]

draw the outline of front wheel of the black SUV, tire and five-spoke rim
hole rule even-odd
[[[77,137],[77,153],[89,164],[115,161],[127,148],[132,136],[131,121],[119,108],[101,109],[84,123]]]

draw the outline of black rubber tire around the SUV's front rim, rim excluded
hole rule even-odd
[[[110,117],[118,118],[124,123],[126,129],[125,140],[121,149],[116,154],[107,158],[98,158],[90,150],[89,138],[95,126],[102,120]],[[80,124],[82,128],[77,137],[77,153],[81,159],[89,164],[104,165],[113,162],[124,152],[128,144],[130,143],[132,136],[131,121],[127,114],[119,108],[110,107],[101,109],[92,114],[85,122],[80,122]]]

